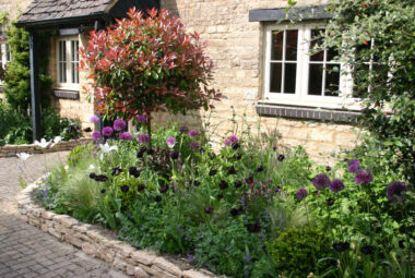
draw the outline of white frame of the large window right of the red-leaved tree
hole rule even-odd
[[[353,98],[352,89],[353,82],[351,74],[343,74],[349,72],[344,63],[341,63],[340,96],[312,96],[308,95],[309,83],[309,64],[310,64],[310,40],[311,29],[323,29],[324,25],[321,23],[309,24],[266,24],[264,25],[264,44],[263,44],[263,99],[261,104],[276,104],[288,106],[306,106],[315,108],[331,108],[331,109],[349,109],[360,110],[361,105],[359,99]],[[297,41],[297,70],[296,70],[296,89],[295,94],[271,93],[271,48],[272,48],[272,33],[274,31],[298,31]],[[286,44],[284,44],[284,50]],[[312,62],[311,62],[312,63]],[[317,62],[321,63],[321,62]],[[325,64],[325,56],[324,56]],[[284,78],[284,76],[283,76]],[[283,81],[282,81],[283,82]],[[323,81],[324,82],[324,81]],[[323,84],[324,85],[324,84]]]

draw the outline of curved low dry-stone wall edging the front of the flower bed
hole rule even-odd
[[[88,255],[104,259],[131,277],[217,277],[203,269],[192,269],[185,258],[138,250],[126,242],[115,240],[112,232],[99,226],[83,223],[72,217],[44,209],[33,200],[34,190],[39,185],[40,182],[32,183],[16,196],[19,210],[28,223],[50,233],[59,241],[70,243]]]

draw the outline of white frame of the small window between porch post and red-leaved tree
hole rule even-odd
[[[80,62],[80,56],[79,53],[73,53],[72,52],[72,47],[71,44],[72,41],[76,41],[78,44],[78,49],[80,47],[80,38],[79,36],[64,36],[64,37],[59,37],[56,40],[56,87],[57,88],[62,88],[62,89],[71,89],[71,90],[79,90],[80,89],[80,74],[75,75],[75,78],[72,76],[72,69],[75,67],[75,63]],[[60,44],[63,43],[66,46],[66,74],[67,74],[67,80],[66,82],[60,81]],[[78,58],[78,61],[73,61],[72,58]]]

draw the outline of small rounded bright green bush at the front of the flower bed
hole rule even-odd
[[[288,277],[315,273],[318,259],[330,254],[330,238],[319,228],[289,228],[266,245],[276,269]]]

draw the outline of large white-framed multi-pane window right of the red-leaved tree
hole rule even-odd
[[[264,100],[281,105],[358,108],[337,52],[310,53],[324,32],[317,24],[265,25]]]

